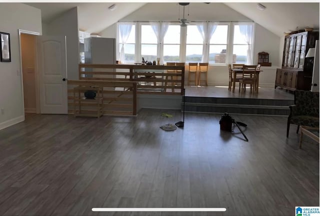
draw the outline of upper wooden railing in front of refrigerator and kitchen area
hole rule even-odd
[[[79,64],[79,80],[135,81],[138,94],[183,95],[184,66]]]

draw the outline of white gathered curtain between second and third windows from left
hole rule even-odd
[[[160,65],[163,64],[163,40],[166,31],[168,30],[169,23],[168,22],[151,22],[152,30],[157,39],[157,49],[156,55],[160,58]]]

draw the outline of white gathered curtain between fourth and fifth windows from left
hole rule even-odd
[[[203,39],[202,47],[202,62],[209,62],[209,48],[210,48],[210,39],[217,27],[216,23],[213,22],[203,22],[200,25],[197,25],[197,28]]]

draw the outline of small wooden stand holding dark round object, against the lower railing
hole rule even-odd
[[[89,99],[85,98],[85,91],[95,91],[95,98]],[[78,97],[75,97],[75,92],[78,93]],[[103,93],[102,88],[99,86],[89,87],[89,86],[78,86],[73,88],[73,114],[74,116],[88,116],[99,118],[103,115]],[[81,112],[81,103],[85,105],[91,105],[96,107],[96,110]],[[96,113],[94,113],[96,111]]]

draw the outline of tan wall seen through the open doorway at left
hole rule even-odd
[[[36,112],[35,102],[35,35],[21,34],[24,111]]]

